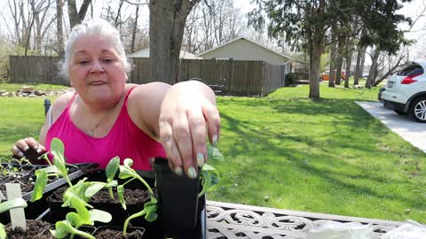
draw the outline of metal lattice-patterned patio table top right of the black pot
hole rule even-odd
[[[303,239],[314,227],[328,221],[371,224],[383,235],[402,222],[299,212],[277,208],[207,201],[207,238],[211,239]]]

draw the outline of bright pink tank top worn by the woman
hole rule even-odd
[[[98,163],[101,168],[105,168],[111,158],[118,156],[121,163],[125,158],[133,159],[132,167],[134,169],[151,170],[149,158],[165,158],[166,153],[161,143],[146,135],[130,119],[127,112],[127,99],[132,89],[127,93],[114,126],[102,138],[86,135],[70,119],[69,107],[75,99],[76,95],[74,95],[64,112],[59,115],[58,120],[49,128],[46,136],[46,149],[50,150],[51,140],[57,137],[65,145],[64,154],[69,164],[91,162]]]

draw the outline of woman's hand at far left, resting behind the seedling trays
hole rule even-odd
[[[15,158],[25,156],[31,163],[37,163],[38,157],[46,152],[46,148],[34,138],[20,139],[13,145],[12,153]]]

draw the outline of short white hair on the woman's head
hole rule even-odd
[[[69,34],[67,45],[65,46],[65,58],[64,61],[60,63],[59,70],[62,75],[69,78],[69,60],[71,58],[71,53],[75,44],[75,41],[83,36],[91,35],[100,35],[106,36],[113,43],[114,50],[117,51],[122,65],[126,70],[126,73],[129,73],[133,67],[130,59],[126,57],[126,52],[124,51],[124,46],[120,38],[120,32],[113,27],[105,19],[91,19],[84,21],[82,24],[76,25],[71,30]]]

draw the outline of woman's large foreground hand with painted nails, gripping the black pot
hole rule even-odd
[[[172,86],[162,101],[159,127],[170,168],[196,178],[197,166],[207,161],[207,136],[212,144],[219,139],[220,116],[214,92],[199,81]]]

